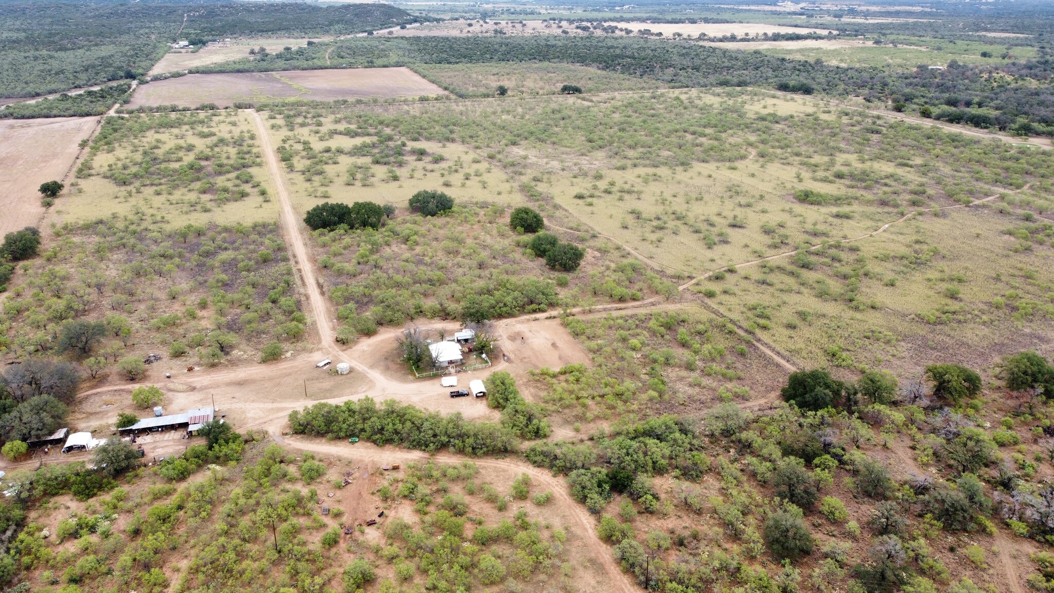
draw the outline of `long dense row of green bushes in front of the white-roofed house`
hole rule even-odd
[[[317,403],[291,412],[289,422],[300,435],[358,437],[378,446],[397,444],[427,452],[450,447],[466,455],[486,455],[514,451],[519,444],[515,434],[500,424],[424,412],[394,400],[380,406],[370,398],[340,405]]]

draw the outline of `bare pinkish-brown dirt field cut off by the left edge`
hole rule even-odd
[[[97,119],[0,120],[0,235],[37,224],[44,213],[37,188],[61,180],[77,157],[77,144],[92,133]]]

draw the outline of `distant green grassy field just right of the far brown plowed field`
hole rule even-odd
[[[425,78],[462,97],[495,96],[499,84],[508,96],[555,95],[564,84],[583,93],[663,89],[656,80],[604,72],[592,68],[553,63],[421,64],[414,70]]]

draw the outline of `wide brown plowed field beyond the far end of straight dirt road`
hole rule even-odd
[[[229,107],[238,101],[273,99],[331,101],[444,94],[446,91],[406,68],[190,74],[140,85],[129,107]]]

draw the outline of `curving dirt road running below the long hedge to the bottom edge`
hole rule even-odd
[[[271,436],[275,439],[275,441],[288,447],[326,455],[335,455],[337,457],[343,457],[353,461],[360,461],[364,463],[368,461],[375,461],[377,464],[379,464],[380,461],[386,463],[406,463],[409,461],[427,461],[429,459],[446,463],[461,463],[466,459],[460,455],[427,455],[419,452],[415,453],[393,447],[380,448],[363,442],[356,443],[355,445],[349,445],[347,443],[332,444],[332,441],[321,441],[318,439],[309,439],[304,437],[282,438],[280,435],[276,435],[274,433],[272,433]],[[531,482],[542,484],[542,487],[548,489],[552,492],[553,497],[550,504],[559,506],[569,516],[574,518],[574,521],[578,523],[575,527],[586,536],[585,541],[589,549],[589,553],[607,573],[609,579],[609,587],[607,590],[621,593],[636,593],[640,590],[636,585],[630,582],[629,578],[622,572],[622,569],[614,561],[614,557],[611,555],[611,551],[608,546],[600,539],[600,536],[597,535],[597,521],[582,504],[575,502],[574,499],[571,498],[571,495],[568,492],[567,483],[564,480],[554,478],[548,471],[534,467],[525,461],[484,458],[472,459],[472,462],[476,465],[485,467],[501,467],[511,470],[516,473],[527,474],[530,476]]]

